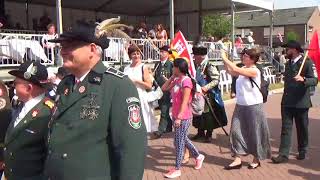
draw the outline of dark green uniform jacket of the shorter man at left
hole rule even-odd
[[[43,179],[51,105],[51,100],[43,98],[16,127],[11,121],[4,144],[4,172],[8,180]]]

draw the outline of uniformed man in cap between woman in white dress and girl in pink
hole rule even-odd
[[[160,48],[160,62],[155,64],[154,77],[158,85],[161,87],[172,75],[173,63],[169,60],[169,46]],[[169,115],[171,107],[170,92],[163,92],[162,98],[158,101],[160,107],[160,122],[157,132],[154,132],[155,138],[160,138],[162,134],[172,131],[172,121]]]

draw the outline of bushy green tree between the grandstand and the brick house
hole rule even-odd
[[[203,18],[203,34],[205,36],[224,37],[231,33],[231,17],[221,14],[206,15]]]

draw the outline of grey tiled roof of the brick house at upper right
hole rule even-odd
[[[275,10],[274,25],[307,24],[315,9],[316,7],[304,7]],[[263,11],[237,13],[235,26],[237,28],[270,26],[270,16]]]

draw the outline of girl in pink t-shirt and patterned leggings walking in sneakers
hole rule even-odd
[[[204,155],[192,144],[187,137],[188,129],[192,120],[191,101],[194,95],[195,81],[190,78],[188,62],[185,59],[177,58],[173,62],[173,75],[162,86],[163,91],[170,91],[172,98],[172,120],[175,128],[174,144],[176,149],[176,165],[166,174],[167,178],[181,176],[181,164],[187,148],[196,159],[195,169],[200,169]]]

